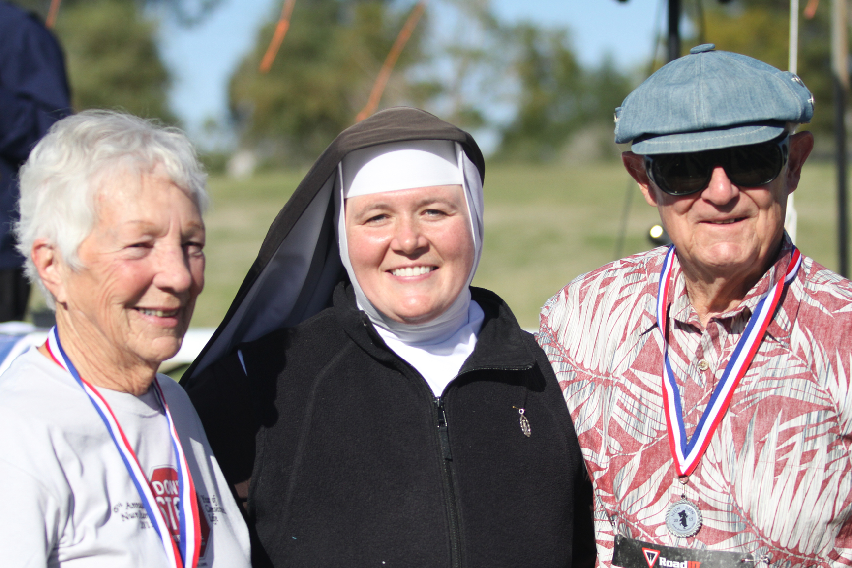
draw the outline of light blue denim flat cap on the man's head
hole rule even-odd
[[[615,142],[637,154],[757,144],[809,123],[814,97],[797,75],[712,43],[671,61],[615,109]]]

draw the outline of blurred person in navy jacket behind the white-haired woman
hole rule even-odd
[[[37,15],[0,0],[0,321],[22,319],[30,295],[12,234],[18,168],[70,107],[59,42]]]

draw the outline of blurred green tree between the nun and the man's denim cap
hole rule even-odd
[[[609,57],[584,69],[566,30],[515,26],[515,73],[520,93],[514,120],[502,130],[495,158],[556,158],[570,137],[594,124],[612,124],[613,111],[630,92],[630,79]]]

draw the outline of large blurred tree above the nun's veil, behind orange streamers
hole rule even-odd
[[[353,123],[413,3],[389,0],[297,2],[272,69],[258,72],[275,27],[258,33],[255,49],[231,77],[229,102],[241,143],[273,164],[316,158]],[[423,60],[420,21],[394,68],[381,107],[420,105],[434,83],[414,83],[406,69]]]

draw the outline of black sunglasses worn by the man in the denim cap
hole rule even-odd
[[[670,195],[689,195],[710,183],[713,168],[722,166],[736,186],[757,187],[773,181],[787,163],[790,135],[760,144],[730,146],[705,152],[645,156],[645,171]]]

